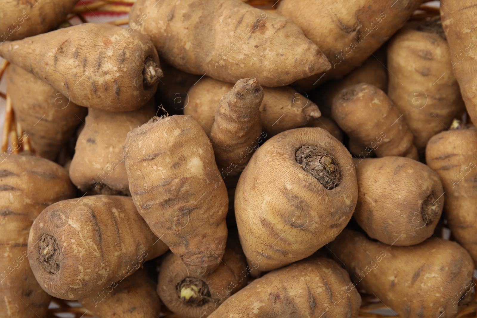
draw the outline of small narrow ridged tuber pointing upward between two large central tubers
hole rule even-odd
[[[263,89],[254,78],[239,80],[220,99],[209,138],[221,174],[225,169],[230,177],[239,175],[259,147],[262,100]]]

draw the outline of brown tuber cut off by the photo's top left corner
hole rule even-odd
[[[78,0],[2,1],[0,42],[21,40],[52,30],[73,10]]]

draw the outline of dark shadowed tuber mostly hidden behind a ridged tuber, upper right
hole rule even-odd
[[[333,98],[348,86],[359,83],[368,83],[376,86],[383,92],[387,92],[387,70],[383,63],[374,56],[364,61],[363,65],[354,69],[340,80],[332,80],[319,86],[310,92],[310,99],[320,105],[323,115],[331,117]]]

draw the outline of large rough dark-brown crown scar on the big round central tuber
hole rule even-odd
[[[304,145],[297,150],[295,160],[304,171],[318,180],[328,190],[332,190],[340,184],[340,168],[333,156],[325,150]]]

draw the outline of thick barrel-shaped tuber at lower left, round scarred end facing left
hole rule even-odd
[[[166,251],[133,200],[117,195],[50,205],[28,238],[28,260],[41,288],[67,300],[105,295],[144,261]]]

